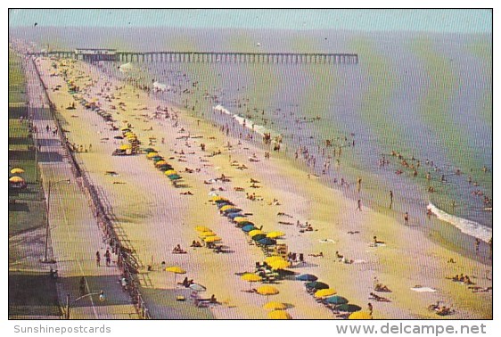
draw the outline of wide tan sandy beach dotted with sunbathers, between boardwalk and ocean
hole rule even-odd
[[[491,267],[439,244],[440,237],[433,232],[423,234],[418,220],[411,218],[406,226],[401,215],[365,205],[357,210],[356,202],[284,156],[271,153],[266,159],[259,147],[226,136],[218,126],[109,78],[93,65],[38,59],[37,66],[70,143],[82,144],[86,150],[76,154],[78,160],[111,205],[122,240],[134,247],[141,260],[139,280],[148,305],[155,308],[155,318],[183,317],[178,313],[185,312],[185,317],[261,319],[267,318],[268,311],[262,306],[269,300],[290,304],[287,311],[294,319],[336,318],[300,281],[285,279],[271,284],[279,291],[272,296],[244,292],[250,284],[239,274],[253,273],[256,262],[266,256],[250,244],[250,237],[240,228],[219,215],[210,193],[226,197],[250,213],[250,221],[263,226],[263,231],[283,232],[278,241],[285,243],[288,251],[304,254],[306,261],[294,263],[289,270],[318,276],[318,281],[329,284],[363,310],[370,302],[376,319],[492,317],[492,292],[469,288],[492,287]],[[113,130],[110,122],[70,95],[63,70],[66,78],[79,86],[77,95],[111,113],[115,127],[130,124],[141,148],[157,150],[182,177],[179,186],[172,185],[145,154],[112,156],[127,140],[114,138],[121,135],[119,129]],[[106,95],[114,98],[105,99]],[[72,103],[75,109],[66,109]],[[155,118],[157,107],[167,107],[169,118]],[[222,175],[226,182],[219,179]],[[255,193],[256,198],[250,200],[246,193]],[[300,230],[298,221],[308,222],[313,230]],[[193,240],[200,240],[195,226],[208,226],[222,238],[228,252],[216,254],[205,247],[190,247]],[[374,236],[383,243],[374,245]],[[172,253],[177,244],[185,254]],[[89,256],[93,251],[94,247],[89,247]],[[336,251],[352,263],[343,262]],[[317,256],[320,252],[323,257]],[[186,274],[177,275],[175,282],[172,273],[162,270],[162,261],[167,267],[184,268]],[[460,274],[469,275],[473,284],[449,279]],[[185,276],[207,288],[201,297],[214,294],[220,304],[196,308],[190,300],[174,301],[178,294],[186,293],[177,284]],[[375,292],[374,279],[390,292]],[[388,301],[374,300],[371,292]],[[164,297],[170,300],[168,310],[162,308]],[[429,310],[437,301],[455,313],[438,316]]]

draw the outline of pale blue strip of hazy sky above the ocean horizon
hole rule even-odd
[[[490,10],[41,10],[13,9],[10,27],[180,27],[491,32]]]

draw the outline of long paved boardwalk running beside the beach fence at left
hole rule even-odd
[[[37,127],[38,162],[45,191],[45,200],[50,188],[50,249],[49,259],[53,265],[45,265],[58,270],[58,298],[66,308],[67,296],[70,303],[71,319],[130,319],[138,318],[127,293],[119,284],[119,268],[112,255],[111,267],[104,263],[106,244],[97,226],[86,194],[78,187],[71,170],[68,154],[62,147],[57,133],[53,133],[55,123],[45,96],[44,86],[37,77],[34,62],[25,62],[28,81],[29,114]],[[50,130],[47,131],[46,127]],[[70,179],[70,184],[66,182]],[[95,252],[102,256],[101,267],[96,266]],[[79,284],[85,279],[86,293],[103,290],[105,300],[99,295],[89,295],[80,300]]]

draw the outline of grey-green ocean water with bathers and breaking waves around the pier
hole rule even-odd
[[[428,207],[465,234],[486,242],[491,237],[491,206],[484,202],[493,192],[490,35],[46,28],[12,29],[11,37],[54,50],[358,53],[357,65],[159,62],[131,63],[127,71],[119,70],[119,62],[98,66],[145,86],[165,85],[165,93],[152,95],[228,126],[235,136],[252,134],[261,144],[256,131],[281,135],[281,152],[364,205],[387,210],[392,190],[396,216],[408,211],[425,218]],[[325,140],[333,146],[325,147]],[[383,156],[390,163],[381,166]],[[401,160],[414,165],[417,177]]]

